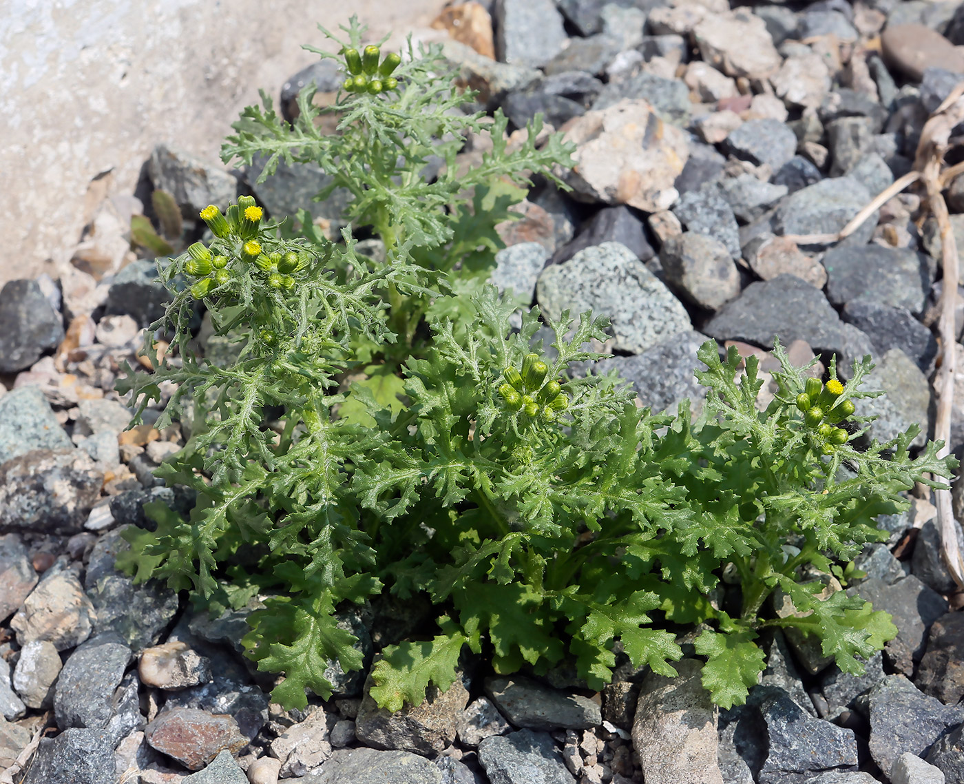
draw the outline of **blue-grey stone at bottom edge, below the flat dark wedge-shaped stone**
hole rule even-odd
[[[491,784],[576,784],[546,732],[522,729],[486,738],[478,753]]]

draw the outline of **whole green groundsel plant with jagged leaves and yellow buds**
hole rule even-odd
[[[518,198],[490,199],[497,178],[551,176],[568,150],[555,137],[537,149],[529,128],[509,152],[496,116],[493,151],[456,178],[459,134],[484,123],[450,111],[466,98],[438,75],[439,52],[410,46],[405,62],[379,62],[372,47],[359,55],[354,22],[348,32],[340,135],[315,132],[305,93],[293,126],[270,106],[246,110],[226,157],[263,152],[336,173],[387,260],[357,253],[347,230],[335,243],[307,219],[300,231],[266,223],[251,198],[202,210],[214,238],[162,270],[173,300],[146,338],[149,349],[155,331],[172,331],[179,362],[152,375],[128,367],[119,382],[138,416],[174,382],[158,427],[195,412],[187,445],[157,473],[198,501],[189,519],[148,504],[156,530],[128,528],[120,565],[209,608],[258,596],[243,642],[259,669],[284,674],[273,698],[285,706],[304,706],[306,689],[331,696],[330,662],[362,666],[334,613],[383,593],[428,597],[436,611],[434,631],[386,647],[372,669],[370,693],[390,710],[430,684],[447,689],[466,647],[500,673],[568,658],[597,689],[619,650],[672,676],[693,625],[721,706],[757,683],[766,629],[816,637],[844,672],[862,671],[896,628],[813,574],[844,575],[842,563],[886,538],[875,518],[906,505],[899,491],[936,486],[952,459],[935,444],[912,459],[916,427],[866,446],[853,401],[878,393],[860,389],[870,358],[845,387],[832,363],[822,384],[778,343],[779,392],[760,412],[756,358],[741,369],[736,349],[721,359],[708,341],[697,419],[688,401],[675,413],[637,408],[615,374],[576,377],[573,363],[603,356],[584,346],[605,338],[607,320],[564,312],[548,322],[550,352],[535,339],[538,309],[513,330],[519,303],[484,284],[495,221]],[[440,151],[447,170],[426,183],[418,172]],[[199,302],[237,340],[235,361],[192,351]],[[767,603],[777,589],[793,612]]]

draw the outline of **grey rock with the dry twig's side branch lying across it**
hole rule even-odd
[[[780,203],[774,216],[774,233],[836,233],[868,202],[870,193],[867,188],[852,177],[822,179],[790,194]],[[876,225],[877,213],[873,213],[841,245],[866,245]]]

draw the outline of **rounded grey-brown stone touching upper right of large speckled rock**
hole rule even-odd
[[[718,311],[739,295],[739,272],[732,254],[714,236],[689,230],[670,237],[659,250],[659,260],[666,281],[700,308]]]

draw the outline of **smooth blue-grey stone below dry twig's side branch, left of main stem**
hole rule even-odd
[[[834,248],[823,257],[827,299],[839,307],[868,300],[918,315],[930,290],[931,263],[929,257],[906,248]]]

